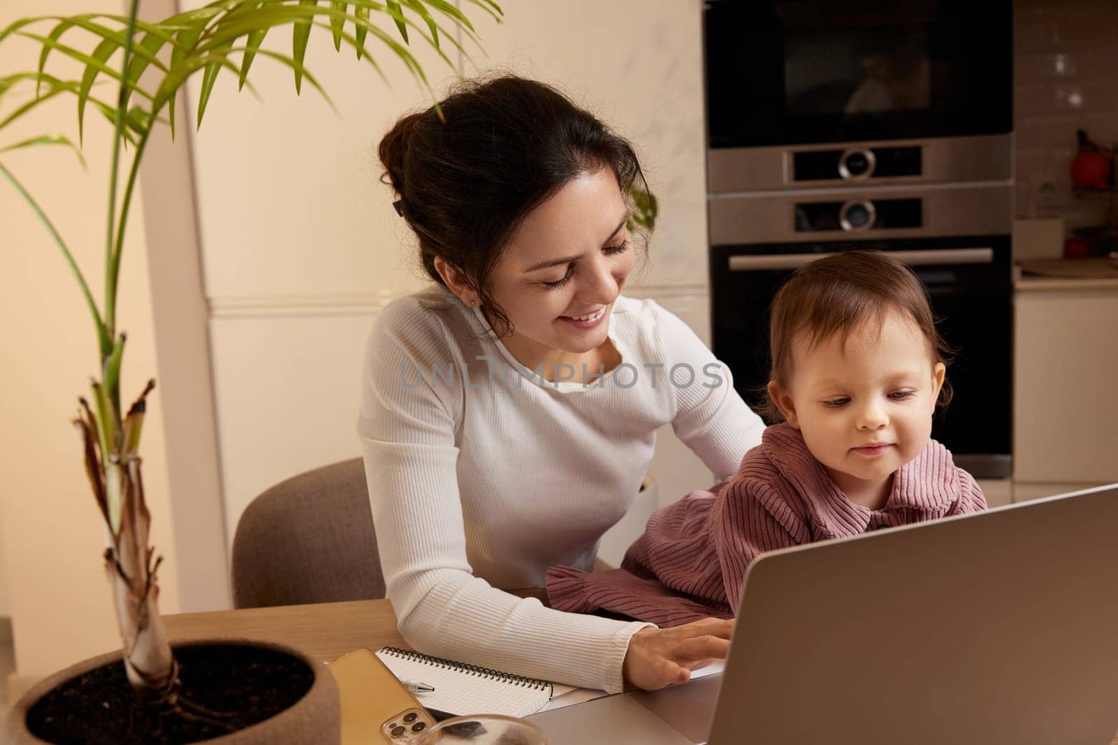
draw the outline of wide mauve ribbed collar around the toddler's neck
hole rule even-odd
[[[813,528],[823,534],[818,537],[864,533],[880,513],[916,510],[925,519],[941,517],[959,494],[959,475],[951,453],[936,440],[928,440],[920,455],[897,469],[892,491],[880,510],[852,503],[812,456],[798,429],[787,423],[767,428],[761,448],[804,499]]]

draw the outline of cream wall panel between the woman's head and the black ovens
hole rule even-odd
[[[566,89],[636,146],[661,220],[642,284],[705,292],[707,189],[700,0],[510,2],[485,23],[487,58]]]

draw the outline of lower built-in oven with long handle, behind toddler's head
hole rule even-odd
[[[1011,475],[1010,184],[711,194],[712,344],[757,405],[768,381],[768,311],[780,284],[821,256],[892,251],[928,288],[956,354],[955,398],[932,436],[976,478]]]

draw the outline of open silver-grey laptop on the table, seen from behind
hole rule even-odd
[[[1118,484],[764,554],[722,675],[528,717],[548,745],[1108,745]]]

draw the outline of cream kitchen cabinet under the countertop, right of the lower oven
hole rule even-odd
[[[1118,279],[1025,278],[1015,311],[1014,500],[1118,481]]]

